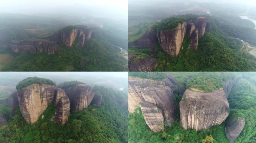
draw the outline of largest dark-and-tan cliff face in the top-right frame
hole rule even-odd
[[[186,34],[187,23],[179,23],[177,28],[158,32],[158,41],[165,53],[176,56]]]

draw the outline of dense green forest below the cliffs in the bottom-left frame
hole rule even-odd
[[[127,143],[127,95],[113,89],[95,86],[103,95],[102,107],[89,105],[83,111],[71,112],[68,122],[58,125],[50,119],[53,103],[34,124],[27,124],[16,109],[6,127],[0,129],[1,143]],[[1,109],[1,108],[0,108]]]

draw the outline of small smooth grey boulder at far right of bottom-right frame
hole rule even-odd
[[[228,138],[229,142],[235,142],[235,140],[243,130],[244,125],[245,118],[239,118],[235,115],[231,115],[231,117],[229,117],[229,120],[226,122],[225,125],[226,137]]]

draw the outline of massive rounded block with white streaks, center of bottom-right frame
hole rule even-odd
[[[229,104],[223,90],[210,93],[187,89],[180,101],[180,124],[186,130],[206,130],[219,125],[229,114]]]

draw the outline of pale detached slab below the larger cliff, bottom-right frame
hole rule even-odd
[[[149,102],[140,102],[140,108],[146,124],[152,131],[164,130],[164,117],[161,109]]]

